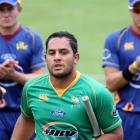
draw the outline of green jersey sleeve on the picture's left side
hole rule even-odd
[[[21,98],[21,113],[27,118],[33,118],[32,111],[29,107],[29,95],[28,95],[28,82],[24,85],[22,90],[22,98]]]

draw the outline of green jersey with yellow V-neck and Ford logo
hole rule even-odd
[[[111,93],[87,75],[77,72],[66,89],[54,89],[47,74],[29,80],[23,89],[21,111],[34,120],[36,140],[91,140],[92,127],[82,101],[85,95],[103,132],[121,124]]]

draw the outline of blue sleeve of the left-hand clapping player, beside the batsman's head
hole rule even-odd
[[[38,33],[34,34],[32,56],[31,56],[31,69],[35,70],[38,68],[45,67],[44,47],[43,42]]]

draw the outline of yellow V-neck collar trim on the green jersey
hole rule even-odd
[[[50,81],[50,84],[53,87],[53,89],[55,90],[55,92],[58,94],[58,96],[62,96],[70,87],[72,87],[77,82],[77,80],[79,79],[80,75],[81,75],[80,72],[76,71],[75,79],[64,89],[62,89],[62,88],[54,88],[52,83],[51,83],[51,81]]]

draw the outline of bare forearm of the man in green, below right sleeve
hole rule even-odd
[[[122,127],[119,126],[115,130],[104,135],[95,138],[95,140],[123,140],[123,131]]]

